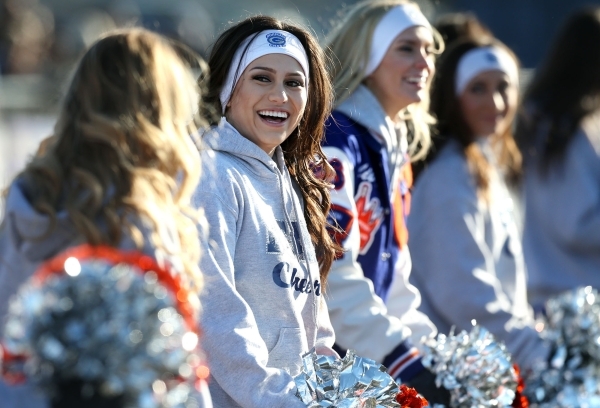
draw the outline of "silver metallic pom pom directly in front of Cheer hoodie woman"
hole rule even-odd
[[[294,381],[296,396],[309,408],[391,408],[398,384],[384,366],[348,350],[340,360],[310,351],[302,356],[303,369]]]

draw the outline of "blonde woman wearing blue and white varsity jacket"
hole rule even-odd
[[[410,162],[430,143],[428,90],[442,48],[415,3],[354,6],[326,40],[336,99],[323,143],[336,170],[331,218],[344,248],[328,286],[336,344],[381,362],[432,403],[448,403],[449,395],[421,364],[417,346],[435,327],[417,310],[420,295],[408,282],[404,222]]]

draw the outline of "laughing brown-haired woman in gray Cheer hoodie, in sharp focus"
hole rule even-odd
[[[306,30],[257,16],[219,37],[209,67],[207,101],[223,117],[203,135],[211,150],[195,203],[210,224],[201,269],[211,394],[219,407],[302,407],[292,379],[301,355],[334,354],[322,51]]]

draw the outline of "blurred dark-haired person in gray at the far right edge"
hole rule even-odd
[[[574,13],[523,100],[523,247],[536,310],[600,288],[600,8]]]

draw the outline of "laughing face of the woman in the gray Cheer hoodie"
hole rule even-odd
[[[269,156],[296,129],[308,97],[306,77],[294,58],[268,54],[246,67],[225,117]]]

